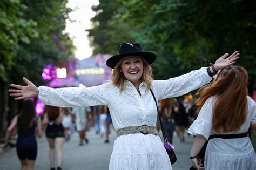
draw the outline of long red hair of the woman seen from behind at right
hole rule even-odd
[[[212,129],[218,133],[239,130],[246,120],[247,83],[248,74],[243,67],[230,66],[221,70],[215,81],[199,90],[197,113],[205,101],[214,96]]]

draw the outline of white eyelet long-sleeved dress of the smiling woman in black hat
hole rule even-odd
[[[154,80],[152,90],[157,100],[177,97],[209,83],[206,68],[169,80]],[[127,81],[125,90],[106,83],[93,87],[52,89],[39,87],[39,99],[46,105],[80,107],[107,105],[116,130],[129,126],[156,126],[157,108],[145,84],[136,88]],[[172,169],[163,142],[157,135],[128,134],[114,141],[109,169]]]

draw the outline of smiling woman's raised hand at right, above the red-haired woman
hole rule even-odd
[[[229,56],[228,53],[225,53],[225,55],[221,56],[219,59],[216,60],[214,64],[215,70],[224,69],[227,66],[230,66],[235,63],[235,60],[239,58],[238,51],[235,51],[231,56]]]

